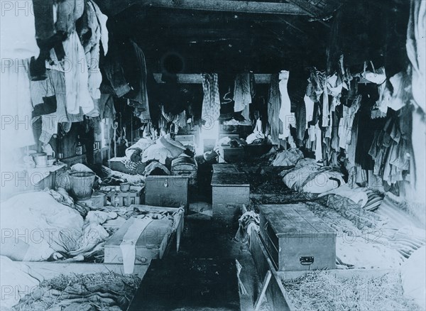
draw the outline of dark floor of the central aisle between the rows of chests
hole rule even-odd
[[[198,170],[198,187],[190,189],[190,212],[185,217],[185,229],[180,251],[170,250],[168,258],[236,259],[241,264],[240,279],[246,295],[240,291],[241,310],[253,310],[261,288],[248,244],[234,240],[238,224],[218,227],[212,220],[212,165],[202,163]],[[271,310],[264,302],[261,310]]]

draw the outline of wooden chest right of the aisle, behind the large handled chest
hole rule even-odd
[[[244,173],[214,173],[212,176],[213,218],[231,224],[249,204],[250,185]]]

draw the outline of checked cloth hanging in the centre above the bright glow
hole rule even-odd
[[[204,126],[213,126],[214,121],[220,116],[220,96],[217,74],[202,74],[202,89],[204,99],[202,102],[202,120],[206,122]]]

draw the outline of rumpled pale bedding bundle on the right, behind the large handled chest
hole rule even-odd
[[[342,173],[320,166],[311,158],[297,161],[295,168],[283,171],[281,176],[290,189],[315,194],[336,189],[346,183]]]

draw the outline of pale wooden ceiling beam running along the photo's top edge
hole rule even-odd
[[[133,4],[165,9],[187,9],[199,11],[228,11],[235,13],[263,13],[307,15],[307,12],[295,4],[254,2],[240,0],[132,0]]]

